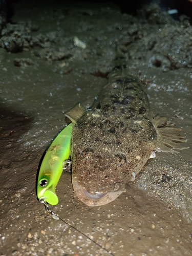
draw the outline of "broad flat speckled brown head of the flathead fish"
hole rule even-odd
[[[74,125],[71,140],[77,197],[89,206],[115,200],[150,158],[155,141],[155,128],[147,118],[129,118],[122,125],[118,119],[84,115]]]

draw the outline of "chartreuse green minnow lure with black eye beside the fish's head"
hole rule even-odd
[[[66,160],[70,156],[70,141],[73,123],[66,126],[53,140],[42,160],[38,181],[37,198],[49,204],[58,204],[55,187],[60,179],[62,170],[67,167]]]

